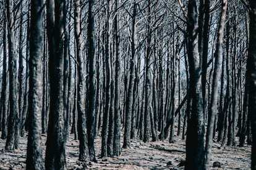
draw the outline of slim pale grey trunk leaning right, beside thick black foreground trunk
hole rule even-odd
[[[210,159],[211,159],[211,146],[213,142],[213,127],[214,119],[217,110],[218,102],[218,84],[221,75],[221,57],[222,57],[222,44],[223,44],[223,32],[224,32],[224,22],[226,18],[226,11],[228,6],[228,0],[222,1],[222,10],[220,14],[220,23],[218,28],[218,41],[216,44],[215,51],[215,67],[213,72],[213,84],[211,88],[211,103],[210,110],[208,113],[208,125],[207,125],[207,137],[205,144],[205,169],[209,169]]]

